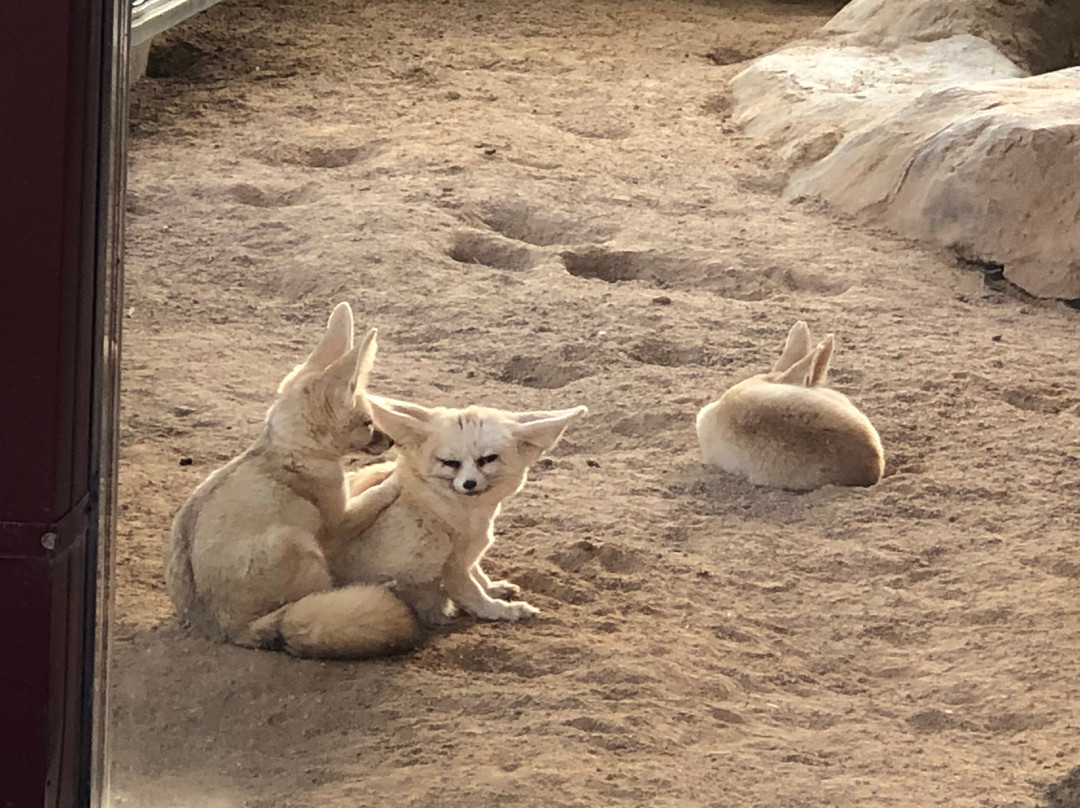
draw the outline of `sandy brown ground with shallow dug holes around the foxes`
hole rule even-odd
[[[779,200],[726,82],[837,8],[226,0],[160,42],[132,106],[116,805],[1061,797],[1080,318]],[[376,392],[589,406],[489,556],[534,622],[373,662],[176,625],[170,520],[338,300],[380,329]],[[837,335],[874,488],[699,461],[698,408],[796,319]]]

